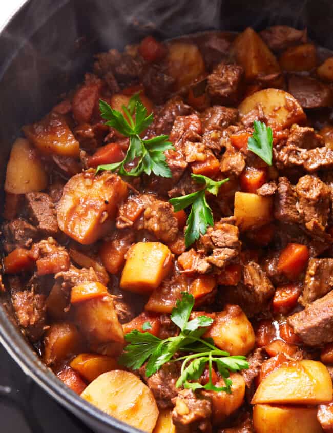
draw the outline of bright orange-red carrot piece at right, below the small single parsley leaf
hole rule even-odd
[[[289,243],[280,253],[277,269],[290,280],[295,280],[304,271],[308,259],[306,245]]]

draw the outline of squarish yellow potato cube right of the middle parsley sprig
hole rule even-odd
[[[273,219],[272,197],[237,191],[234,217],[241,232],[268,224]]]

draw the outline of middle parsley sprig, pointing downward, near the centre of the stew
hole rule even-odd
[[[215,181],[201,174],[191,174],[191,177],[197,183],[204,184],[205,187],[202,190],[196,191],[194,193],[181,197],[175,197],[169,200],[173,205],[175,212],[192,205],[190,215],[186,221],[186,247],[192,245],[192,243],[199,239],[200,234],[204,235],[209,225],[214,225],[212,209],[206,201],[205,192],[209,191],[210,193],[217,195],[220,186],[229,180],[227,178]]]

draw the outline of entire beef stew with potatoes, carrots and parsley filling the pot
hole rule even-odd
[[[109,415],[333,431],[333,55],[317,49],[287,26],[148,36],[97,54],[14,142],[0,291]]]

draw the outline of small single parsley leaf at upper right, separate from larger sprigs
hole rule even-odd
[[[273,158],[273,131],[265,123],[255,120],[253,122],[254,132],[247,141],[247,147],[256,155],[260,156],[269,166],[272,166]]]

